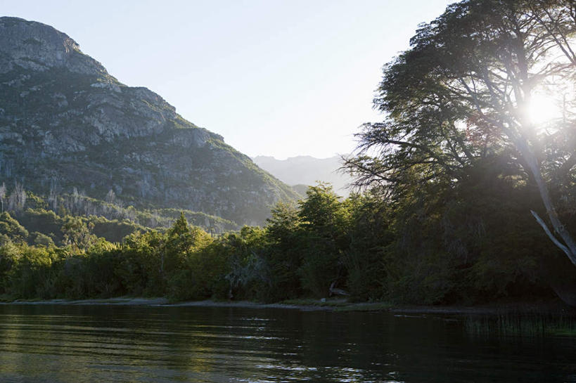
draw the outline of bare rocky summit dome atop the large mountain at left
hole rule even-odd
[[[41,22],[21,18],[0,18],[0,73],[14,65],[44,71],[66,68],[82,74],[106,74],[105,68],[84,55],[67,34]]]

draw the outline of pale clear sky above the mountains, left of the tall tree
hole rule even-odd
[[[0,0],[250,156],[352,152],[381,68],[445,0]]]

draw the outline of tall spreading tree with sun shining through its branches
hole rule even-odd
[[[546,209],[542,219],[534,207],[537,222],[576,264],[576,241],[554,205],[574,197],[575,32],[575,1],[452,4],[385,65],[375,99],[385,121],[364,125],[347,167],[360,186],[401,193],[407,175],[457,182],[505,153],[537,186]],[[542,119],[546,98],[561,105]]]

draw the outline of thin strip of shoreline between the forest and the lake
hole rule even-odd
[[[299,311],[331,311],[352,312],[371,311],[387,312],[391,314],[416,315],[513,315],[513,314],[549,314],[549,315],[576,315],[576,308],[563,304],[560,301],[544,303],[505,303],[482,304],[477,306],[408,306],[387,304],[385,302],[359,302],[349,303],[344,300],[320,301],[313,299],[300,299],[271,304],[262,304],[253,301],[181,301],[169,302],[166,298],[108,298],[108,299],[48,299],[38,301],[1,301],[1,305],[54,305],[54,306],[139,306],[139,307],[229,307],[240,309],[288,309]]]

